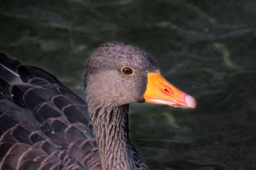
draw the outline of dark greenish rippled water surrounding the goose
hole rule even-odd
[[[108,41],[138,45],[195,110],[131,104],[150,169],[256,169],[256,1],[0,1],[0,51],[83,97],[84,64]]]

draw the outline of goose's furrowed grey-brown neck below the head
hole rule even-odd
[[[129,104],[92,109],[88,103],[88,109],[102,169],[135,169],[128,133]]]

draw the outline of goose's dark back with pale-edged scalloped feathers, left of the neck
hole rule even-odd
[[[86,103],[0,53],[0,169],[100,169]]]

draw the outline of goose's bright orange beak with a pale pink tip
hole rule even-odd
[[[164,104],[179,108],[195,108],[194,97],[180,91],[166,81],[158,70],[156,73],[148,73],[147,89],[143,95],[145,102]]]

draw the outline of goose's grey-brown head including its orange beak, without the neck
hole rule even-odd
[[[84,87],[89,105],[94,101],[108,106],[136,102],[196,106],[193,97],[163,78],[146,52],[127,43],[106,43],[93,52],[86,66]]]

